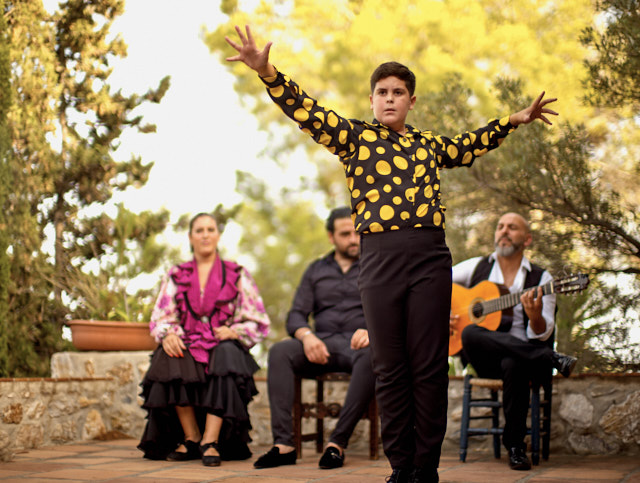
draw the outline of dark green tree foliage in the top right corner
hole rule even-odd
[[[599,0],[602,28],[589,26],[581,37],[593,48],[595,58],[585,64],[589,70],[587,100],[594,105],[625,107],[640,101],[640,2]],[[636,110],[637,112],[637,110]]]

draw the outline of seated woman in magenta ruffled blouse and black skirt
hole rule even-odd
[[[150,323],[161,344],[141,384],[145,458],[219,466],[251,456],[247,405],[258,365],[249,348],[267,335],[269,317],[249,272],[218,255],[219,239],[215,217],[196,215],[193,260],[162,281]]]

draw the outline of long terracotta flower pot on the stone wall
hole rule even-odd
[[[144,322],[70,320],[71,341],[81,351],[153,350],[158,344]]]

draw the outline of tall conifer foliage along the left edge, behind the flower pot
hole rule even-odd
[[[11,219],[12,357],[0,375],[46,374],[51,353],[66,347],[64,321],[87,315],[91,296],[105,296],[101,318],[117,304],[126,309],[126,298],[117,295],[118,280],[130,275],[127,265],[154,255],[157,263],[163,250],[154,237],[165,228],[166,212],[105,211],[115,192],[146,182],[152,164],[118,160],[118,140],[128,129],[154,131],[135,110],[159,102],[169,86],[165,78],[130,96],[110,87],[110,62],[126,55],[126,45],[109,29],[123,9],[123,0],[68,0],[49,15],[40,1],[4,3],[11,189],[1,209]]]

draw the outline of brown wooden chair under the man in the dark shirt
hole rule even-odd
[[[302,380],[315,380],[316,400],[315,402],[303,402],[302,400]],[[315,441],[316,451],[322,453],[324,447],[324,419],[337,418],[342,409],[339,402],[324,401],[325,382],[346,382],[351,381],[351,375],[344,372],[329,372],[317,377],[299,376],[295,378],[295,392],[293,402],[293,437],[298,458],[302,455],[303,441]],[[302,418],[315,418],[316,431],[314,433],[302,434]],[[369,420],[369,459],[377,460],[378,448],[380,444],[380,423],[378,418],[378,405],[375,397],[371,399],[369,407],[362,419]]]

